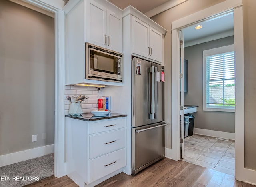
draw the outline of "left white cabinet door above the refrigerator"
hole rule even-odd
[[[132,16],[132,52],[149,56],[149,25]]]

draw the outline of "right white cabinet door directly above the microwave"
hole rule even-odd
[[[122,53],[122,15],[107,9],[106,48]]]

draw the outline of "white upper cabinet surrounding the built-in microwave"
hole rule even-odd
[[[85,75],[85,42],[122,52],[122,10],[107,0],[70,0],[64,7],[66,27],[65,84],[122,83],[89,80]]]

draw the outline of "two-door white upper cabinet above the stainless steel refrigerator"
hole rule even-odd
[[[132,52],[162,62],[163,34],[132,16]]]

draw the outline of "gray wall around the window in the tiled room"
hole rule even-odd
[[[234,44],[234,37],[221,38],[184,48],[188,60],[188,92],[184,93],[185,105],[198,105],[194,127],[223,132],[235,132],[235,113],[203,111],[203,51]]]

